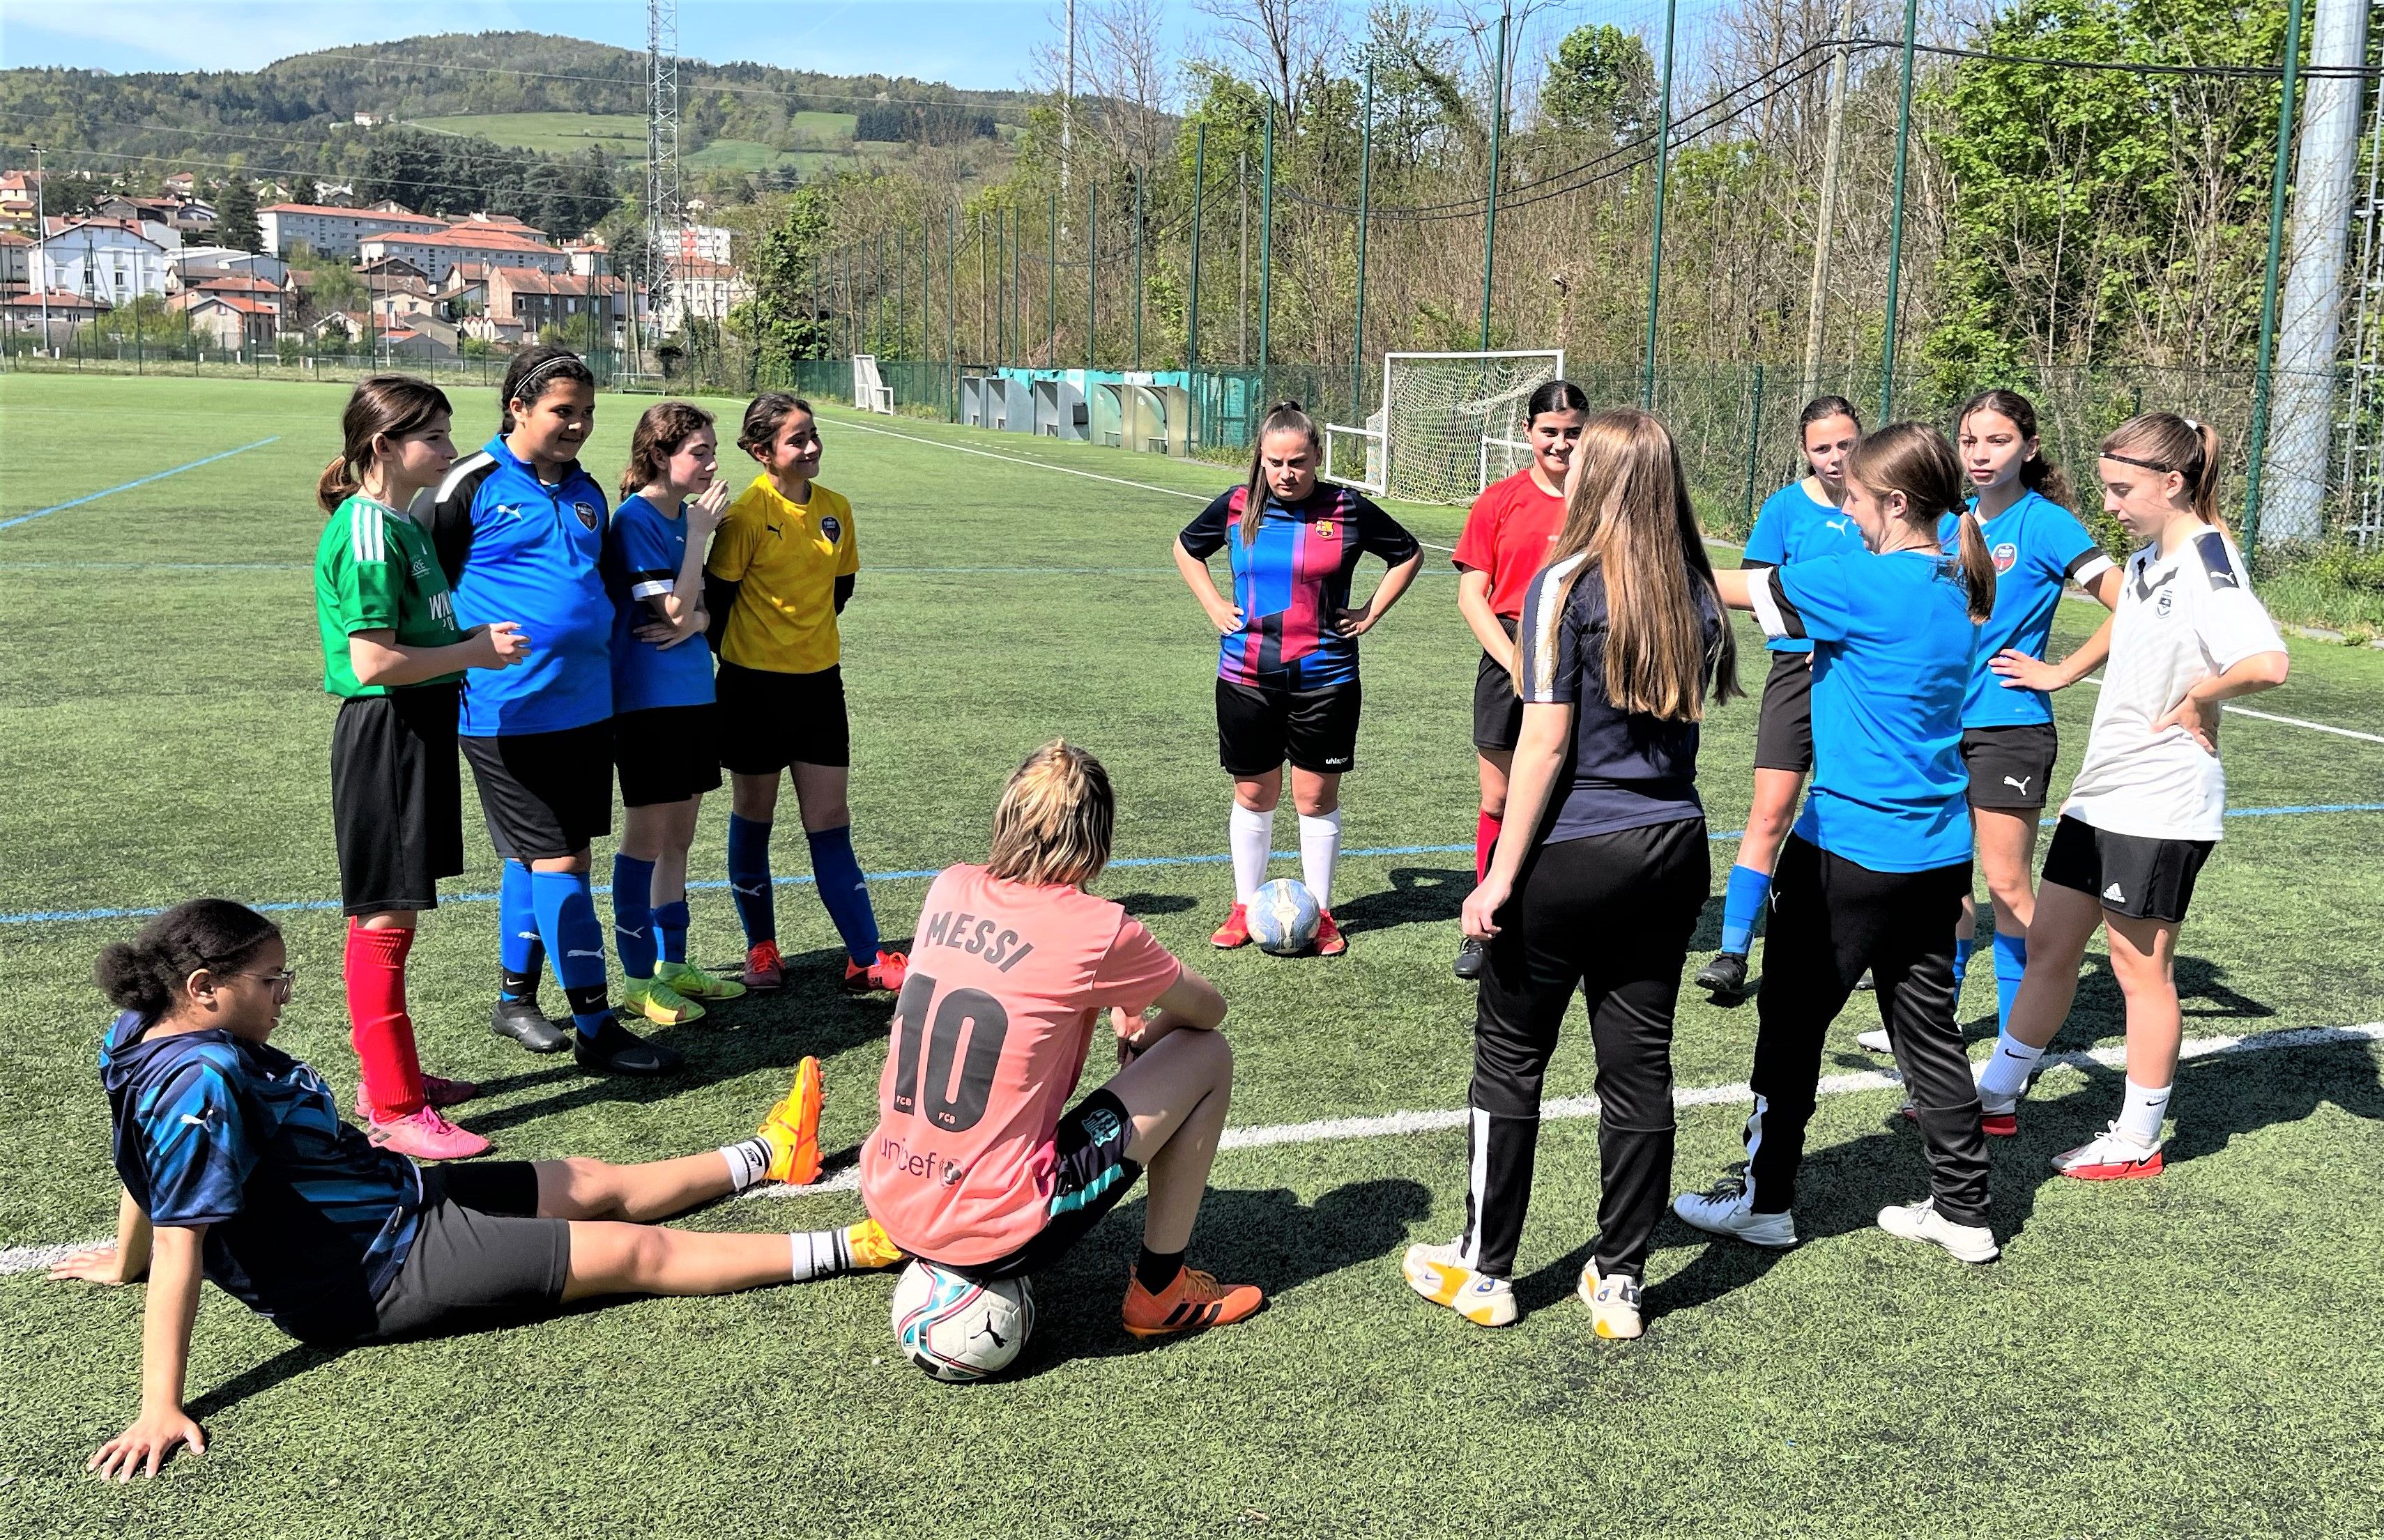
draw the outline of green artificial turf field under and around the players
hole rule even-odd
[[[2189,1061],[2172,1166],[2155,1182],[2050,1175],[2045,1156],[2098,1130],[2119,1097],[2117,1070],[2050,1070],[2022,1137],[1995,1142],[2005,1254],[1991,1268],[1871,1228],[1881,1204],[1926,1185],[1895,1089],[1855,1080],[1812,1125],[1807,1242],[1757,1254],[1666,1218],[1647,1337],[1631,1345],[1600,1342],[1569,1297],[1595,1232],[1597,1142],[1590,1120],[1552,1120],[1523,1235],[1526,1316],[1476,1330],[1397,1273],[1407,1242],[1447,1240],[1461,1221],[1461,1130],[1285,1128],[1464,1104],[1473,1004],[1447,963],[1471,856],[1430,846],[1473,832],[1476,651],[1445,555],[1428,553],[1364,644],[1345,844],[1392,853],[1342,863],[1349,954],[1213,954],[1204,937],[1230,901],[1216,637],[1168,565],[1199,503],[1156,489],[1211,493],[1230,472],[839,410],[825,412],[822,482],[853,501],[863,546],[844,617],[863,865],[977,858],[1028,749],[1068,734],[1101,753],[1125,863],[1099,887],[1221,982],[1240,1063],[1233,1123],[1271,1130],[1221,1154],[1192,1256],[1266,1285],[1268,1311],[1202,1340],[1125,1337],[1132,1199],[1039,1280],[1018,1371],[975,1387],[930,1383],[894,1352],[889,1278],[632,1302],[339,1356],[291,1345],[210,1287],[188,1378],[210,1452],[122,1490],[86,1478],[83,1459],[136,1409],[141,1290],[50,1285],[31,1249],[112,1223],[93,1068],[107,1008],[88,973],[138,920],[76,915],[195,894],[336,896],[334,706],[308,563],[341,400],[324,386],[0,377],[5,1533],[2384,1530],[2372,1042]],[[586,462],[606,484],[641,405],[598,403]],[[710,405],[734,422],[741,403]],[[491,391],[458,393],[458,410],[462,446],[493,429]],[[1454,544],[1457,510],[1399,513],[1421,539]],[[2091,617],[2069,606],[2062,646]],[[1743,644],[1755,684],[1750,632]],[[2253,706],[2384,734],[2384,656],[2293,641],[2293,667]],[[2062,777],[2091,708],[2088,689],[2057,698]],[[1745,813],[1752,734],[1752,698],[1707,725],[1716,832]],[[2203,875],[2179,963],[2186,1035],[2372,1023],[2384,813],[2329,808],[2384,803],[2384,744],[2231,718],[2227,763],[2234,808],[2279,813],[2236,818]],[[706,808],[699,880],[722,875],[725,813],[725,796]],[[1287,825],[1278,846],[1292,844]],[[465,1123],[501,1159],[715,1147],[751,1132],[796,1056],[820,1054],[822,1142],[844,1151],[832,1175],[849,1163],[875,1113],[887,1004],[834,989],[839,951],[806,887],[780,889],[784,994],[670,1032],[689,1058],[672,1080],[596,1080],[484,1030],[496,863],[477,820],[467,839],[470,870],[448,884],[460,901],[427,918],[415,949],[412,1008],[424,1063],[486,1087]],[[1731,849],[1714,844],[1716,894]],[[803,875],[791,815],[777,861],[782,880]],[[892,939],[908,934],[923,889],[915,875],[875,882]],[[694,903],[696,956],[737,956],[727,894]],[[341,918],[336,906],[279,918],[303,977],[277,1042],[346,1097]],[[1716,925],[1719,896],[1700,949]],[[1981,961],[1964,996],[1976,1037],[1993,1035],[1986,975]],[[2117,1044],[2117,1004],[2096,951],[2057,1047]],[[1829,1073],[1883,1068],[1852,1042],[1867,1025],[1857,994]],[[1752,1032],[1752,1004],[1683,994],[1678,1185],[1705,1185],[1738,1154],[1743,1097],[1712,1087],[1745,1078]],[[1550,1097],[1588,1092],[1583,1044],[1566,1042]],[[853,1192],[834,1190],[679,1223],[818,1228],[858,1213]]]

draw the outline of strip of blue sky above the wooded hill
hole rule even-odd
[[[679,0],[679,52],[830,74],[1013,88],[1058,0]],[[1190,10],[1190,7],[1178,7]],[[257,69],[343,43],[436,31],[551,31],[646,45],[644,0],[0,0],[0,64]]]

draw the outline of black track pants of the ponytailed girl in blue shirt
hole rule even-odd
[[[1986,1223],[1986,1137],[1962,1027],[1952,939],[1969,861],[1926,873],[1874,873],[1788,837],[1771,875],[1771,939],[1755,1001],[1755,1113],[1747,1192],[1757,1213],[1786,1213],[1821,1082],[1821,1039],[1869,968],[1895,1068],[1929,1147],[1929,1192],[1957,1225]]]

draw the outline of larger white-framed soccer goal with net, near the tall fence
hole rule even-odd
[[[1409,503],[1471,503],[1531,460],[1531,393],[1564,379],[1562,348],[1387,353],[1383,405],[1326,424],[1328,482]]]

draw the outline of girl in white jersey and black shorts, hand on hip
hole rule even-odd
[[[2053,1159],[2062,1175],[2160,1175],[2160,1120],[2177,1078],[2177,927],[2220,842],[2227,772],[2220,703],[2284,684],[2277,625],[2253,596],[2217,513],[2220,436],[2174,412],[2129,417],[2103,441],[2103,508],[2146,541],[2127,560],[2117,613],[2062,663],[2014,651],[1995,672],[2065,689],[2103,660],[2086,763],[2062,803],[2029,923],[2029,973],[1979,1078],[1988,1132],[2017,1128],[2019,1097],[2076,994],[2096,925],[2127,996],[2127,1101],[2091,1144]]]

